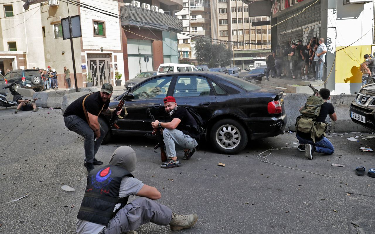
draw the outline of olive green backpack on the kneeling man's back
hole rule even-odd
[[[323,122],[317,122],[315,119],[320,114],[320,109],[324,104],[324,100],[318,96],[310,96],[305,106],[300,110],[301,116],[297,117],[296,132],[310,133],[313,142],[315,137],[326,136],[328,125]]]

